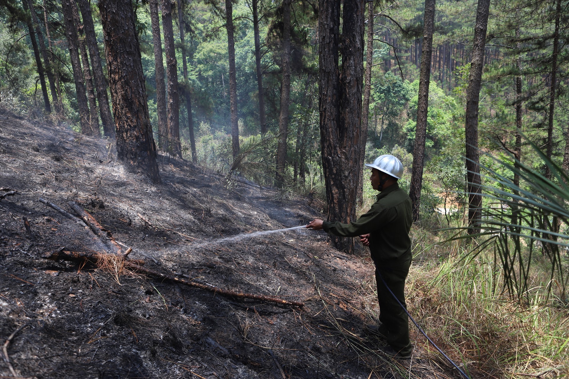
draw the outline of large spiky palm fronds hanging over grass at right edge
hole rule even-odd
[[[556,286],[566,301],[569,234],[561,226],[569,225],[569,176],[538,146],[527,143],[549,168],[551,179],[511,154],[509,160],[486,154],[496,164],[480,165],[486,183],[481,186],[485,205],[481,232],[475,236],[485,239],[473,253],[493,244],[495,262],[504,271],[504,288],[522,300],[529,295],[530,268],[536,263],[536,250],[540,250],[537,256],[546,258],[549,270],[548,294]],[[472,237],[464,235],[468,228],[455,229],[457,234],[451,240]]]

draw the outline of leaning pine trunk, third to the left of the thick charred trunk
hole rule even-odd
[[[79,123],[81,125],[81,133],[91,134],[89,125],[89,106],[87,105],[87,96],[85,94],[85,81],[83,72],[81,72],[81,62],[79,60],[79,41],[77,39],[77,29],[73,21],[73,10],[71,8],[72,0],[61,0],[61,11],[65,22],[65,36],[69,47],[69,57],[71,58],[71,67],[73,69],[73,81],[75,82],[75,92],[77,96],[77,107],[79,108]]]

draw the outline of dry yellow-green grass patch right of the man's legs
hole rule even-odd
[[[463,362],[474,377],[569,374],[569,311],[547,298],[541,280],[546,270],[535,270],[529,300],[518,304],[502,292],[501,270],[491,251],[472,259],[468,246],[435,242],[425,244],[430,259],[417,257],[411,267],[407,307],[447,355]],[[417,346],[439,359],[424,337],[413,332]]]

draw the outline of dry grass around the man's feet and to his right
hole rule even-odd
[[[472,378],[560,378],[569,376],[569,310],[547,297],[541,280],[547,270],[533,274],[529,302],[518,304],[502,292],[500,267],[486,250],[467,257],[469,246],[423,229],[412,230],[414,263],[406,285],[409,312],[428,336]],[[536,265],[538,267],[538,265]],[[411,340],[420,359],[386,360],[365,336],[347,328],[335,316],[334,299],[320,296],[325,318],[336,333],[370,370],[391,362],[396,377],[428,377],[445,371],[458,377],[450,364],[410,322]],[[361,327],[378,319],[377,290],[373,277],[363,279],[357,294],[346,298],[361,302],[348,307]],[[560,306],[559,304],[562,304]],[[415,356],[415,354],[414,354]],[[444,370],[442,369],[444,368]],[[455,375],[456,374],[456,375]]]

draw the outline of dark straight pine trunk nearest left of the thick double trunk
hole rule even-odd
[[[283,0],[283,50],[281,58],[281,114],[279,115],[279,141],[277,146],[277,171],[275,184],[282,188],[284,183],[284,165],[288,137],[288,103],[290,101],[290,4],[292,0]]]

